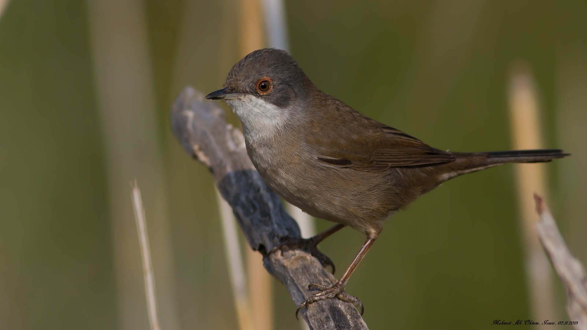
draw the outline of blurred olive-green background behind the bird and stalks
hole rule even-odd
[[[185,85],[216,90],[238,61],[236,4],[140,2],[181,329],[237,326],[211,176],[168,123]],[[510,149],[508,75],[527,62],[546,146],[573,154],[548,165],[549,204],[587,264],[587,2],[297,0],[286,15],[291,53],[318,87],[439,149]],[[121,328],[89,35],[79,0],[12,0],[0,18],[3,329]],[[512,166],[458,177],[387,221],[346,291],[371,329],[529,319],[520,237]],[[321,249],[343,270],[362,242],[345,228]],[[566,321],[555,282],[556,321]],[[275,329],[299,329],[274,287]]]

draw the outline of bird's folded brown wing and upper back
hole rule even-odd
[[[454,156],[430,147],[400,130],[379,123],[328,97],[327,111],[315,113],[306,136],[316,159],[333,167],[380,171],[389,167],[432,166],[454,161]],[[337,132],[336,136],[323,132]]]

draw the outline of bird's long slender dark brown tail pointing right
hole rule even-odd
[[[505,163],[545,163],[553,159],[571,156],[561,149],[489,151],[482,153],[451,153],[456,158],[452,163],[440,165],[445,167],[441,181],[446,181],[461,174],[487,169]]]

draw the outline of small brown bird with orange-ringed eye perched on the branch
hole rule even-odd
[[[338,223],[299,242],[315,245],[349,225],[367,236],[355,260],[332,287],[299,308],[338,297],[363,306],[343,290],[389,215],[448,179],[504,163],[535,163],[568,156],[562,150],[456,153],[438,150],[376,122],[326,95],[288,53],[255,50],[235,64],[223,99],[242,123],[247,152],[279,196],[313,217]],[[291,244],[289,244],[291,245]],[[322,260],[322,263],[329,263]],[[297,311],[296,311],[297,314]]]

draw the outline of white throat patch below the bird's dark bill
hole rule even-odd
[[[245,139],[262,139],[271,137],[286,123],[288,110],[280,109],[259,97],[252,95],[239,96],[227,100],[238,119],[242,123]]]

